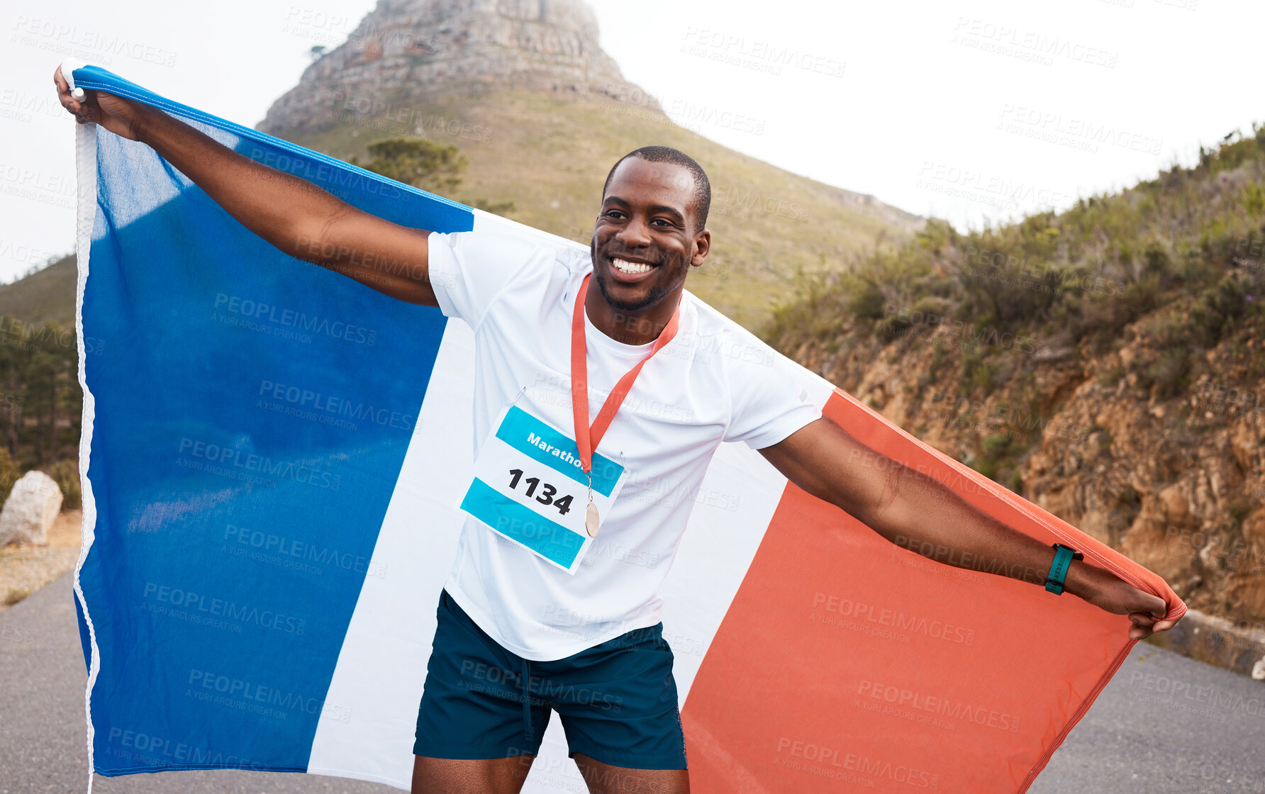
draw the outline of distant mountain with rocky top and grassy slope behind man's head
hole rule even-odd
[[[922,225],[678,126],[602,52],[581,0],[381,0],[258,128],[340,159],[393,137],[454,144],[469,168],[449,197],[512,202],[501,214],[583,243],[611,164],[677,147],[713,195],[712,255],[689,287],[753,329],[791,296],[793,274],[840,269]]]

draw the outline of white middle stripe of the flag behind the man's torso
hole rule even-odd
[[[497,226],[563,241],[476,211],[476,230]],[[312,742],[310,773],[410,788],[417,705],[435,632],[436,584],[448,578],[464,516],[452,494],[464,489],[473,467],[473,358],[469,327],[449,322],[373,551],[371,570],[385,566],[385,575],[368,577],[361,590]],[[806,398],[824,406],[834,387],[807,370],[802,374]],[[662,590],[664,637],[673,646],[682,704],[784,488],[786,478],[759,453],[722,444],[697,498],[672,489],[664,494],[696,498]],[[629,564],[636,564],[636,550],[625,551],[631,553]],[[603,553],[621,554],[608,547]],[[567,757],[565,735],[553,714],[524,791],[558,790],[583,790],[583,780]]]

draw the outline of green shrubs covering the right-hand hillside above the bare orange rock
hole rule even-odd
[[[1042,393],[1042,365],[1080,367],[1145,339],[1146,355],[1094,376],[1102,387],[1127,381],[1154,406],[1185,396],[1208,351],[1228,340],[1242,382],[1265,383],[1265,355],[1251,351],[1265,338],[1265,126],[1202,149],[1190,168],[1061,214],[965,233],[930,220],[899,249],[802,278],[798,290],[763,329],[770,344],[844,388],[855,384],[837,362],[855,350],[908,362],[907,398],[939,408],[918,415],[972,406],[954,421],[987,430],[963,439],[959,455],[1022,493],[1023,461],[1070,397]],[[1249,391],[1265,410],[1265,389]],[[911,430],[923,432],[923,421]]]

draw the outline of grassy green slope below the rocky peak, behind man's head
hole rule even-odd
[[[372,162],[368,147],[391,138],[457,147],[468,161],[460,183],[433,192],[586,244],[616,159],[648,144],[689,153],[711,177],[713,240],[689,288],[749,329],[793,295],[794,274],[839,269],[921,225],[894,207],[739,154],[649,105],[511,90],[423,100],[410,87],[376,99],[387,110],[338,105],[328,123],[281,134],[358,162]]]

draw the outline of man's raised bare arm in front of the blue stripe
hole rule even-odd
[[[306,180],[238,154],[166,113],[121,96],[71,96],[61,67],[57,99],[80,121],[152,147],[207,196],[277,249],[409,303],[438,306],[424,229],[383,220]]]

